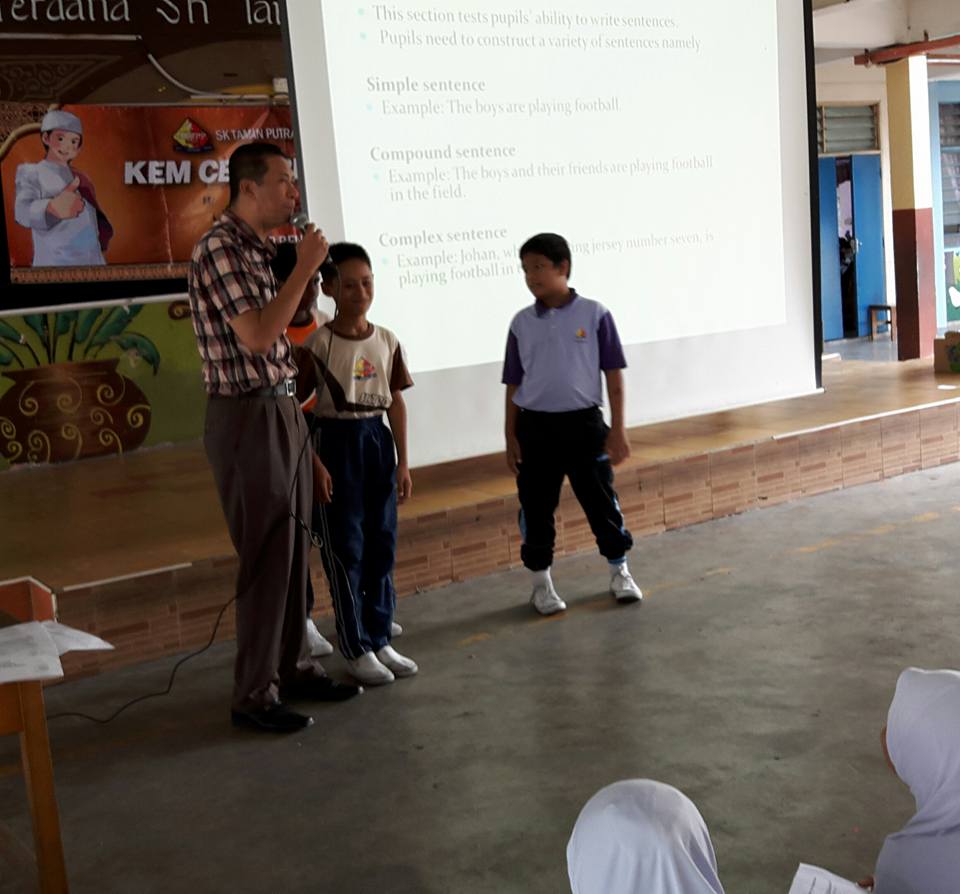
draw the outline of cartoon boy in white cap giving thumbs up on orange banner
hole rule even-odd
[[[97,204],[93,182],[72,166],[83,124],[72,112],[47,112],[40,123],[43,161],[17,166],[15,217],[33,234],[34,267],[106,264],[113,227]]]

